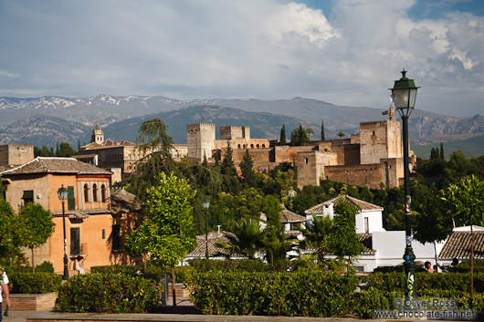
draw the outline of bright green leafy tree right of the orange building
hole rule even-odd
[[[196,244],[191,205],[194,198],[195,191],[185,179],[178,179],[173,172],[169,176],[161,172],[148,190],[144,221],[126,241],[133,253],[150,253],[156,262],[172,267],[174,306],[174,265]]]

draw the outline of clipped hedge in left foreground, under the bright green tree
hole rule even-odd
[[[121,274],[75,275],[58,290],[58,312],[146,313],[161,298],[152,280]]]

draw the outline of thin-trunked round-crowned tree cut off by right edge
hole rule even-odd
[[[484,182],[472,175],[456,184],[450,184],[442,200],[447,213],[460,223],[470,224],[470,306],[474,296],[474,224],[484,223]]]

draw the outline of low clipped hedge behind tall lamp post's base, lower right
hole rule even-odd
[[[388,293],[404,289],[404,273],[374,273],[364,278],[368,287],[375,287]],[[470,275],[468,273],[416,273],[417,294],[425,290],[437,289],[452,292],[470,292]],[[484,292],[484,274],[474,274],[474,291]]]

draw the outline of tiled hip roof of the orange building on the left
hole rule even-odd
[[[73,173],[73,174],[110,174],[95,165],[84,163],[73,158],[37,157],[14,169],[0,172],[2,176],[32,173]]]

